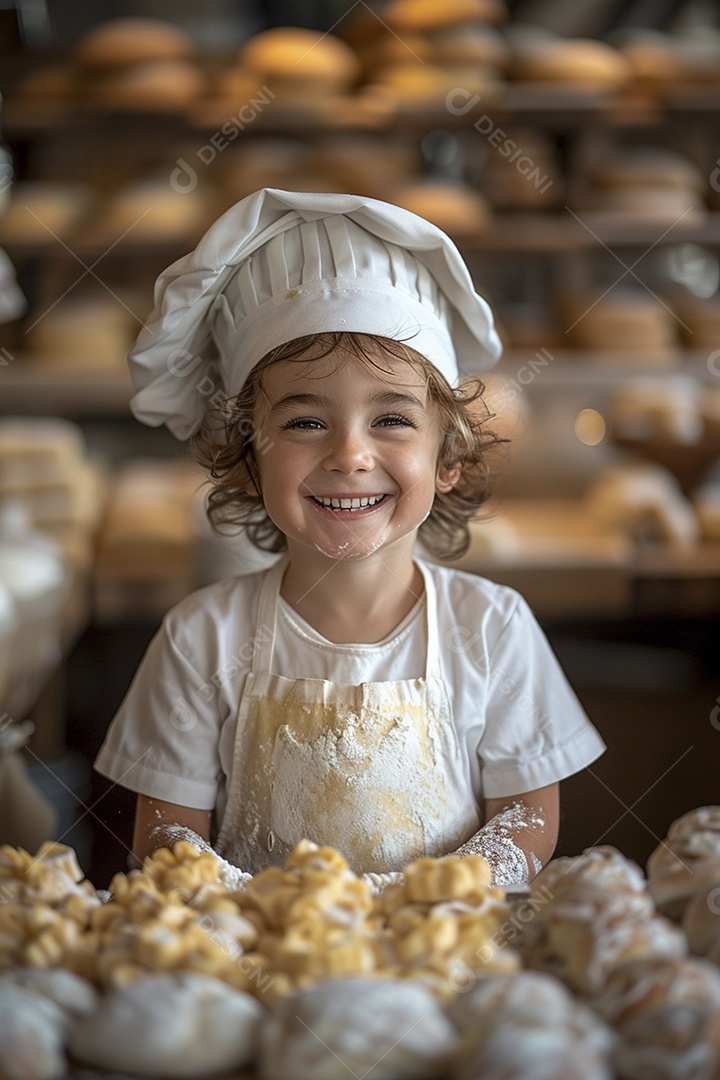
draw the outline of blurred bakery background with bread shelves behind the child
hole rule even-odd
[[[105,729],[164,611],[262,565],[124,363],[262,186],[423,214],[495,310],[510,444],[460,565],[527,596],[609,745],[558,853],[644,863],[720,801],[720,4],[33,0],[0,93],[0,842],[125,868]]]

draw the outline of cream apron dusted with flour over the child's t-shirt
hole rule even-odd
[[[354,686],[272,673],[286,566],[260,593],[257,624],[272,634],[255,639],[218,852],[256,874],[307,838],[364,874],[454,851],[480,821],[440,676],[432,576],[421,566],[424,678]]]

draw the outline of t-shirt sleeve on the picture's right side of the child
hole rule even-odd
[[[545,787],[586,768],[606,745],[522,597],[487,658],[478,744],[486,798]]]

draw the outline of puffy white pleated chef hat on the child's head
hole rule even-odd
[[[263,188],[155,283],[128,355],[134,415],[178,438],[271,349],[350,330],[405,341],[450,384],[500,356],[492,313],[452,241],[376,199]]]

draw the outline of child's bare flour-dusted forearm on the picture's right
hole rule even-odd
[[[484,855],[495,885],[527,885],[555,851],[559,785],[486,799],[484,808],[485,825],[456,854]]]

